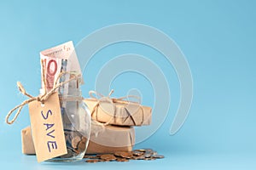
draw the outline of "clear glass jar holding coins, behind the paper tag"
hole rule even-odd
[[[60,89],[59,99],[67,154],[48,161],[82,160],[90,139],[90,111],[83,101],[79,88],[68,88],[66,94]]]

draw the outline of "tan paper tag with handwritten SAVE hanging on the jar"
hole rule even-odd
[[[67,154],[58,93],[44,101],[33,101],[29,105],[32,139],[38,162]]]

